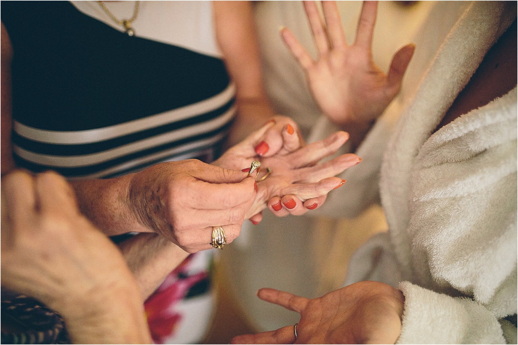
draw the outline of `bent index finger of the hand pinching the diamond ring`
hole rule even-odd
[[[239,183],[207,183],[196,180],[193,181],[191,190],[197,192],[192,192],[192,196],[196,199],[190,199],[190,206],[197,209],[229,209],[246,202],[253,202],[255,180],[253,177],[244,178]]]

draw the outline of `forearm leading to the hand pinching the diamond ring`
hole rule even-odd
[[[129,190],[133,175],[70,182],[81,213],[109,236],[152,231],[143,226],[132,211]]]

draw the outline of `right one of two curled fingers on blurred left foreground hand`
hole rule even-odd
[[[78,214],[75,192],[63,176],[52,171],[38,174],[35,188],[41,213]]]

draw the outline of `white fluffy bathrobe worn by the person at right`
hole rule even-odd
[[[516,87],[432,134],[516,17],[508,6],[467,7],[404,111],[392,104],[358,148],[363,170],[346,172],[349,188],[332,196],[341,199],[333,207],[376,200],[382,161],[389,232],[356,252],[346,284],[399,287],[406,301],[398,343],[516,343],[516,328],[502,320],[517,303]],[[332,129],[320,123],[321,133]]]

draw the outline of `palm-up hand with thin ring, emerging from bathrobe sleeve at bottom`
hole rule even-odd
[[[293,325],[277,331],[234,337],[237,344],[393,344],[401,332],[405,297],[377,281],[361,281],[308,299],[274,289],[257,295],[300,314],[297,339]]]

